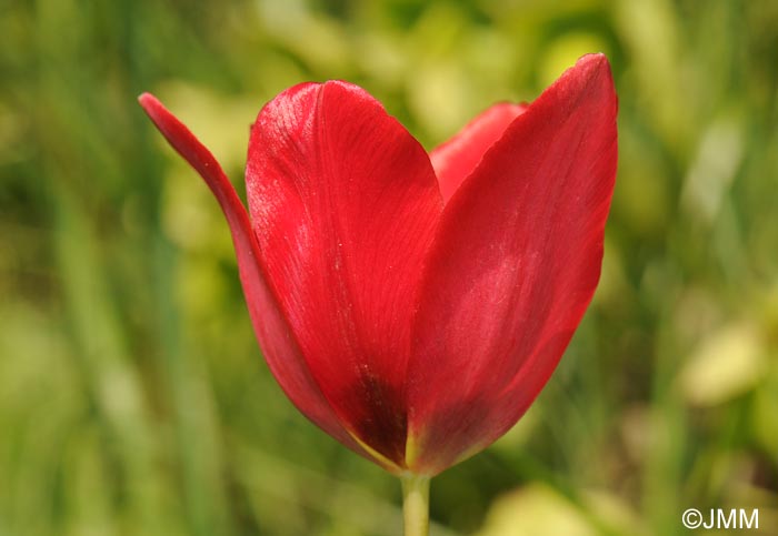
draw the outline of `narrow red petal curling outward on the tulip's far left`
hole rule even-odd
[[[357,454],[380,463],[346,432],[312,380],[257,262],[259,251],[246,209],[221,166],[189,129],[153,95],[143,93],[138,100],[172,148],[202,176],[225,212],[255,332],[281,388],[298,409],[320,428]]]

